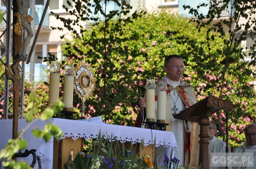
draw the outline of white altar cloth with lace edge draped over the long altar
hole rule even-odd
[[[95,123],[90,122],[88,119],[68,120],[61,118],[51,118],[48,121],[37,119],[37,121],[35,121],[29,127],[29,129],[25,131],[23,138],[28,142],[26,149],[37,150],[36,154],[41,158],[42,169],[53,168],[53,138],[49,142],[45,143],[43,139],[34,138],[31,131],[34,128],[44,128],[46,123],[59,126],[59,128],[64,133],[62,138],[72,137],[75,140],[79,137],[83,137],[85,140],[88,140],[90,138],[98,138],[99,132],[101,132],[101,135],[104,135],[104,137],[108,138],[110,141],[113,141],[113,137],[120,143],[131,142],[132,144],[135,144],[141,143],[142,140],[144,140],[144,146],[154,144],[155,142],[156,147],[158,147],[158,151],[161,150],[163,152],[170,152],[172,148],[174,151],[179,151],[177,149],[174,134],[168,131],[110,125],[103,122]],[[24,129],[27,125],[28,123],[26,123],[26,119],[19,119],[18,131]],[[0,128],[0,149],[2,149],[7,144],[8,139],[12,138],[12,119],[0,120]],[[22,152],[24,152],[24,150]],[[170,153],[167,155],[170,157]],[[27,163],[30,165],[32,162],[32,155],[20,159],[27,161]],[[17,160],[20,159],[17,158]],[[38,168],[38,164],[36,164],[34,168]]]

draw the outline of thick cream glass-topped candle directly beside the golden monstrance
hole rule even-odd
[[[63,82],[63,103],[65,111],[73,109],[73,86],[74,86],[74,69],[73,65],[65,65]]]

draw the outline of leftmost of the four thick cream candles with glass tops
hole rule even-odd
[[[49,101],[48,106],[52,106],[54,102],[59,101],[59,74],[60,66],[59,62],[51,62],[49,69],[50,80],[49,80]]]

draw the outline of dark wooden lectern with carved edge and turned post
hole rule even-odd
[[[197,122],[200,126],[199,134],[199,163],[201,168],[210,169],[209,160],[209,117],[219,110],[232,111],[233,103],[229,100],[217,97],[206,97],[189,108],[182,110],[179,114],[172,114],[174,118],[186,121]]]

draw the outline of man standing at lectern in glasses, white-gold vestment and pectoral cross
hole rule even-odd
[[[174,156],[180,160],[179,166],[184,166],[185,152],[188,152],[190,156],[189,167],[197,168],[199,155],[199,125],[197,123],[192,123],[191,125],[190,121],[174,119],[172,115],[173,113],[179,113],[184,110],[185,107],[189,107],[197,102],[193,87],[189,83],[181,80],[184,69],[185,65],[182,57],[170,55],[165,59],[164,71],[166,72],[166,76],[163,79],[166,81],[168,88],[166,91],[165,123],[169,124],[166,126],[166,131],[171,131],[175,135],[179,152],[176,152]],[[155,113],[157,112],[157,84],[156,82]],[[145,108],[146,98],[140,98],[139,105],[141,108]],[[155,115],[155,117],[157,117],[157,115]]]

